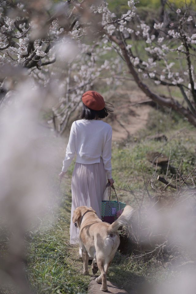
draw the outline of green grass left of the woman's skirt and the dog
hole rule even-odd
[[[42,225],[40,230],[28,234],[27,276],[37,293],[84,294],[90,277],[82,275],[78,246],[69,243],[70,197],[61,190],[54,214],[42,220],[48,229],[43,230]]]

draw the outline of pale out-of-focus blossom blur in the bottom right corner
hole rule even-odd
[[[163,261],[163,268],[157,274],[158,281],[153,283],[150,293],[194,294],[196,288],[195,192],[190,190],[186,191],[186,194],[178,195],[171,205],[164,205],[160,201],[151,208],[146,206],[145,210],[141,209],[140,222],[138,219],[136,222],[136,226],[138,223],[141,224],[138,239],[139,244],[149,252],[146,257],[156,256]],[[156,277],[156,274],[152,274],[152,277],[153,275]]]

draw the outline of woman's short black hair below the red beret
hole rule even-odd
[[[111,103],[105,102],[105,104],[107,104],[107,107],[104,107],[102,110],[92,110],[83,103],[81,119],[104,119],[109,112],[113,112],[109,107],[114,107]]]

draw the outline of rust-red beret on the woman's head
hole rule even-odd
[[[95,91],[87,91],[82,95],[83,103],[92,110],[102,110],[105,107],[104,98]]]

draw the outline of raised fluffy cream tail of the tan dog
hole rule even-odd
[[[130,205],[126,205],[121,216],[108,227],[108,233],[116,232],[120,226],[130,223],[133,212],[134,209]]]

